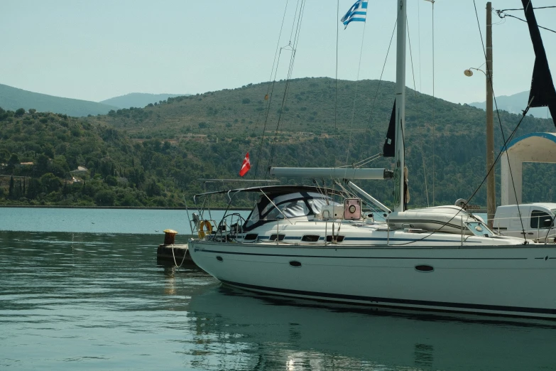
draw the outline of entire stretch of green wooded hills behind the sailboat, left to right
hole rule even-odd
[[[246,178],[265,178],[268,166],[343,166],[380,154],[393,83],[382,82],[380,88],[377,81],[369,80],[337,85],[336,94],[332,79],[293,80],[285,100],[284,81],[276,82],[268,99],[268,84],[248,85],[83,119],[0,113],[0,163],[8,164],[0,169],[6,176],[0,202],[182,205],[182,196],[191,200],[202,189],[198,178],[239,178],[248,151],[252,167]],[[500,119],[507,138],[520,117],[500,112]],[[433,199],[435,205],[452,204],[474,193],[486,173],[484,122],[481,109],[433,101],[408,90],[405,143],[410,207],[432,205]],[[551,120],[525,117],[516,135],[553,128]],[[498,149],[503,139],[497,120],[495,139]],[[45,164],[44,156],[52,161]],[[16,166],[31,161],[35,164],[29,168]],[[64,183],[71,178],[69,170],[77,166],[88,168],[83,176],[85,191],[79,183],[71,187],[68,183],[70,198],[64,193],[67,188],[49,192],[50,176],[43,184],[47,173]],[[393,168],[393,158],[379,157],[366,167]],[[497,168],[496,176],[499,173]],[[14,194],[17,185],[13,185],[10,193],[6,182],[12,174],[40,181],[41,192],[29,198]],[[524,200],[556,200],[555,176],[553,164],[525,166]],[[361,186],[391,204],[391,181]],[[101,191],[112,192],[109,202],[106,193],[98,195]],[[485,204],[484,189],[472,203]]]

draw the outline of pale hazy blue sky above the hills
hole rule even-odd
[[[535,7],[554,0],[533,0]],[[339,0],[341,17],[354,0]],[[297,0],[1,0],[0,83],[60,97],[99,101],[129,92],[197,93],[268,81],[280,46],[288,45]],[[484,36],[486,1],[476,0]],[[493,1],[520,8],[519,0]],[[484,63],[472,0],[435,2],[435,95],[452,102],[484,100],[484,77],[463,70]],[[523,18],[523,11],[513,12]],[[339,24],[337,1],[307,0],[293,77],[377,79],[396,21],[396,1],[369,0],[366,26]],[[556,9],[537,11],[556,28]],[[494,22],[500,19],[496,14]],[[418,90],[432,94],[432,4],[408,0],[408,24]],[[528,90],[533,48],[526,23],[494,26],[496,95]],[[363,32],[364,31],[364,32]],[[556,76],[556,33],[541,31]],[[384,75],[394,80],[395,48]],[[409,55],[408,55],[409,58]],[[283,51],[278,79],[285,78]],[[413,87],[408,59],[407,85]]]

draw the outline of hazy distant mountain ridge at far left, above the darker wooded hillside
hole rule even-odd
[[[111,109],[117,109],[108,104],[54,97],[2,84],[0,84],[0,107],[11,111],[19,108],[26,110],[34,108],[38,112],[53,112],[75,117],[107,114]]]

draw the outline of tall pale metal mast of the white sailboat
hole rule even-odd
[[[394,157],[394,211],[405,211],[405,0],[398,0],[398,42],[396,49],[396,156]]]

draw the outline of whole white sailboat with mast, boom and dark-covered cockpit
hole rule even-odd
[[[503,237],[457,206],[406,210],[405,0],[398,7],[395,168],[271,168],[274,176],[342,179],[342,189],[266,185],[249,217],[230,213],[189,243],[222,283],[305,299],[371,306],[556,318],[556,247]],[[353,183],[391,178],[394,210]],[[337,183],[340,185],[341,183]],[[205,195],[214,194],[207,193]],[[201,196],[201,195],[198,195]],[[361,205],[386,215],[375,220]],[[205,213],[206,215],[206,213]],[[212,225],[211,224],[211,225]],[[202,237],[202,238],[201,238]]]

